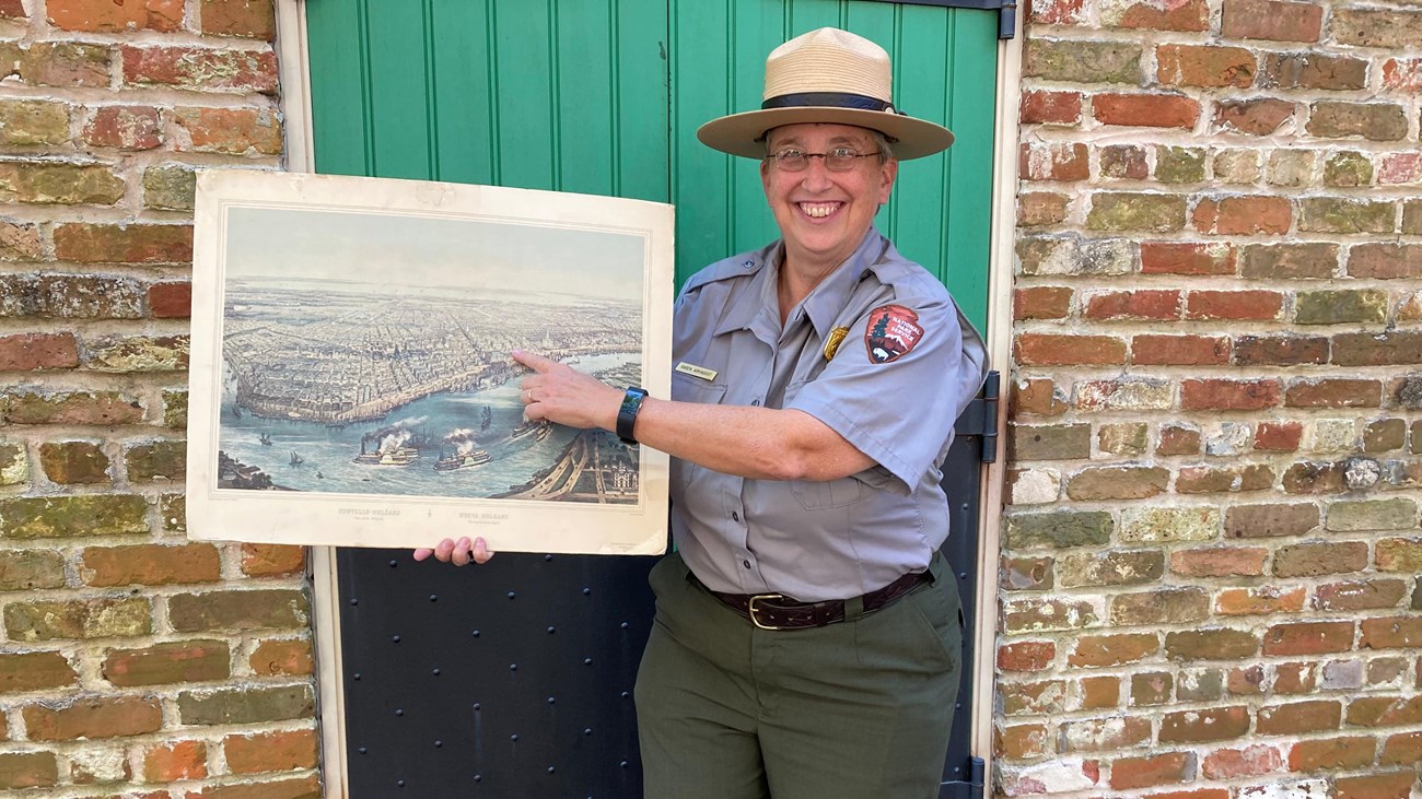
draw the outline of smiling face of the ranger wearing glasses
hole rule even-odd
[[[852,125],[802,124],[775,128],[766,135],[766,152],[795,148],[829,152],[849,148],[877,152],[873,134]],[[828,273],[845,262],[889,202],[899,162],[893,158],[860,158],[848,172],[830,172],[823,158],[811,158],[801,172],[761,162],[765,199],[785,239],[785,263],[792,269]]]

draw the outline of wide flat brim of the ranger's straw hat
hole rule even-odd
[[[762,108],[731,114],[729,117],[711,119],[697,128],[697,139],[721,152],[761,159],[765,158],[765,142],[757,139],[765,131],[782,125],[799,125],[802,122],[855,125],[856,128],[879,131],[894,139],[893,154],[900,161],[943,152],[953,145],[951,131],[926,119],[889,111],[865,111],[860,108],[835,108],[826,105]]]

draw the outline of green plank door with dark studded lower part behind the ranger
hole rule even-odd
[[[702,146],[697,127],[757,108],[765,55],[786,38],[822,26],[863,34],[893,57],[894,104],[957,135],[946,154],[900,168],[877,225],[968,318],[987,321],[997,11],[306,0],[306,21],[319,172],[671,202],[678,284],[775,237],[758,165]],[[964,513],[954,529],[970,542],[975,444],[960,432],[946,465],[961,492],[950,492]],[[646,562],[503,554],[454,570],[340,550],[347,795],[640,796],[627,697],[650,628]],[[963,593],[971,606],[971,586]],[[967,795],[961,707],[943,796]]]

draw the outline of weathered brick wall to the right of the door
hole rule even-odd
[[[1422,6],[1034,0],[1000,795],[1422,795]]]

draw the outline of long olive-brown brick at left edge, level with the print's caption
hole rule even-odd
[[[137,495],[0,499],[0,537],[51,539],[148,532],[148,500]]]

